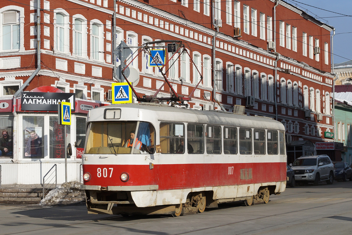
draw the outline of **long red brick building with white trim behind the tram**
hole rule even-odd
[[[247,115],[281,121],[287,129],[289,162],[300,155],[315,153],[315,142],[331,141],[324,133],[333,132],[333,27],[280,0],[130,0],[115,4],[112,0],[42,0],[37,11],[37,2],[33,0],[0,3],[0,97],[8,106],[1,109],[0,126],[13,133],[14,141],[13,155],[1,156],[0,160],[8,171],[17,174],[16,182],[33,183],[38,177],[23,181],[20,167],[10,166],[10,160],[19,164],[45,160],[49,167],[62,159],[55,159],[50,147],[55,144],[50,140],[55,135],[57,114],[28,112],[18,106],[11,109],[13,100],[21,102],[20,97],[13,99],[15,92],[52,86],[75,93],[76,101],[92,103],[92,108],[105,104],[111,84],[117,82],[113,78],[114,38],[117,44],[124,41],[130,47],[158,40],[182,41],[191,58],[183,53],[172,61],[173,66],[166,73],[177,93],[187,96],[193,91],[200,81],[197,67],[203,80],[189,106],[221,109],[218,100],[228,111],[233,111],[234,105],[244,105]],[[142,95],[154,94],[164,81],[148,61],[148,55],[141,53],[130,64],[139,71],[135,89]],[[117,79],[121,78],[117,74]],[[159,97],[168,95],[170,89],[165,86]],[[77,104],[69,137],[71,144],[85,134],[82,126],[87,110]],[[44,147],[40,158],[25,156],[26,126],[41,130]],[[80,133],[74,134],[77,131]],[[75,154],[70,162],[75,169],[71,178],[75,179],[79,175]],[[33,171],[38,167],[33,167]]]

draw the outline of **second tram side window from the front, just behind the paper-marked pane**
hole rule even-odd
[[[204,153],[204,126],[187,125],[187,151],[188,153]]]

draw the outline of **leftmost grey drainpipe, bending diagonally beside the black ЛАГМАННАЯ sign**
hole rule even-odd
[[[33,80],[33,78],[38,74],[40,70],[40,0],[37,0],[37,69],[29,76],[29,78],[23,83],[23,85],[18,89],[12,97],[12,114],[13,114],[13,161],[17,161],[17,97],[24,90],[26,86]]]

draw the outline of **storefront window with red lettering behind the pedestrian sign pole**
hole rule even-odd
[[[49,117],[49,128],[50,128],[50,146],[49,156],[50,158],[65,158],[65,132],[64,125],[58,124],[57,116]],[[70,133],[70,125],[66,125],[67,133]],[[67,137],[67,144],[70,141],[70,137]],[[67,158],[70,156],[67,155]]]

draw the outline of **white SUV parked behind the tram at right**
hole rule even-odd
[[[326,180],[327,184],[334,182],[335,168],[328,155],[301,156],[290,166],[296,181],[312,181],[313,185],[318,185],[319,180]]]

